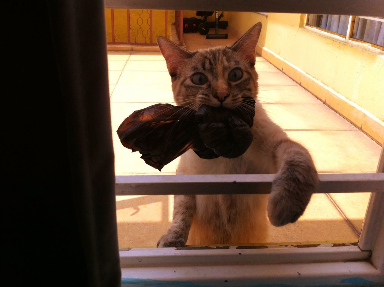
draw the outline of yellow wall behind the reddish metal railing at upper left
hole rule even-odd
[[[131,43],[151,43],[149,37],[149,10],[132,9],[130,13]],[[127,10],[113,9],[115,42],[128,41]],[[108,42],[112,42],[112,17],[111,9],[105,9],[106,34]],[[165,11],[152,10],[152,43],[157,43],[157,36],[166,36],[170,39],[170,26],[175,22],[175,12],[168,11],[167,35],[165,35]]]

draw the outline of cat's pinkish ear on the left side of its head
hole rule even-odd
[[[173,78],[177,74],[180,63],[192,58],[193,54],[177,46],[165,37],[157,37],[157,45],[167,62],[169,75]]]

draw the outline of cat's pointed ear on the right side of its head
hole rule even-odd
[[[255,66],[256,61],[256,45],[259,40],[262,23],[253,25],[239,40],[237,40],[230,49],[242,54],[250,63]]]

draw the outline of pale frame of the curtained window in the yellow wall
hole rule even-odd
[[[383,3],[383,5],[384,5],[384,3]],[[362,48],[365,50],[369,50],[372,52],[383,54],[384,48],[381,48],[381,47],[379,48],[379,46],[377,46],[375,44],[371,44],[371,43],[365,42],[363,40],[355,39],[352,37],[352,29],[353,29],[355,17],[356,16],[349,15],[348,28],[347,28],[347,33],[345,36],[339,35],[338,33],[334,33],[332,31],[325,30],[323,28],[314,27],[312,25],[309,26],[309,24],[308,24],[309,14],[305,14],[305,22],[304,22],[303,28],[308,30],[308,31],[318,33],[319,35],[325,36],[327,38],[332,38],[333,40],[341,41],[341,42],[347,43],[347,44],[352,45],[352,46],[356,46],[356,47],[359,47],[359,48]],[[359,17],[372,18],[372,17],[362,17],[362,16],[359,16]],[[374,19],[374,18],[372,18],[372,19]]]

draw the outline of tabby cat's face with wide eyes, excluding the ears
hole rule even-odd
[[[234,109],[243,95],[256,96],[257,73],[230,48],[210,48],[185,61],[172,79],[172,90],[180,106],[205,104]]]

